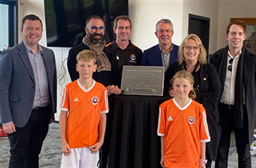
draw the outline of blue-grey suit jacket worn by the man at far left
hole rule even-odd
[[[51,101],[51,117],[54,119],[57,104],[57,75],[54,53],[43,46]],[[23,41],[1,53],[0,57],[0,123],[13,121],[16,127],[24,127],[32,112],[35,96],[35,78]]]

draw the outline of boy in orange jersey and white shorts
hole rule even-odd
[[[92,79],[97,57],[90,50],[78,53],[79,79],[63,91],[60,114],[61,167],[97,167],[108,113],[107,90]]]

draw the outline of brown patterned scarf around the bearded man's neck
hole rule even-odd
[[[99,45],[92,44],[89,37],[86,35],[83,38],[83,43],[87,45],[91,51],[97,55],[97,71],[111,71],[111,64],[107,55],[103,52],[106,41],[103,40]]]

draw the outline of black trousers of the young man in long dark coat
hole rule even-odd
[[[220,103],[219,112],[221,123],[221,138],[215,167],[228,167],[230,135],[231,131],[233,130],[235,132],[236,149],[238,154],[238,167],[251,167],[251,144],[249,142],[249,124],[245,106],[242,129],[234,128],[235,110],[233,107]]]

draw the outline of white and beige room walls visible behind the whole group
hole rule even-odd
[[[23,0],[19,3],[19,27],[26,14],[34,13],[43,21],[44,33],[40,44],[46,46],[45,14],[43,0]],[[173,43],[179,45],[188,32],[188,13],[210,18],[210,44],[209,53],[214,53],[218,48],[226,45],[225,29],[230,18],[256,18],[256,1],[226,1],[226,0],[129,0],[129,16],[133,23],[131,40],[134,44],[145,50],[158,43],[155,36],[155,24],[162,18],[170,19],[174,25]],[[21,41],[19,33],[19,41]],[[63,74],[61,64],[67,70],[67,62],[63,62],[68,55],[69,48],[52,47],[57,61],[58,106],[62,87],[70,82],[68,72]],[[63,77],[63,78],[62,78]],[[57,107],[58,107],[57,106]],[[58,107],[59,112],[59,107]],[[59,120],[59,113],[55,114]]]

